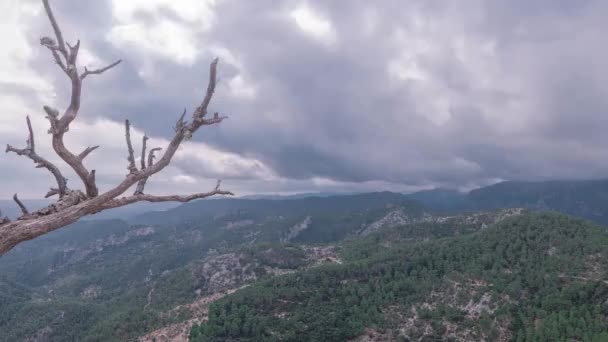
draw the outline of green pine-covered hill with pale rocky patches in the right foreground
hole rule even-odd
[[[212,304],[193,341],[606,341],[608,232],[532,213],[427,242],[380,233],[342,264]]]

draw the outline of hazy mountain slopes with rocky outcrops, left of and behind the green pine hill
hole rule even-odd
[[[0,307],[0,340],[133,339],[180,324],[184,308],[217,298],[215,290],[331,259],[331,245],[320,243],[422,220],[427,211],[399,194],[372,193],[203,200],[134,220],[81,221],[0,258],[13,289],[6,293],[19,294]],[[220,277],[201,271],[205,264],[242,273]],[[227,287],[217,286],[222,279]]]

